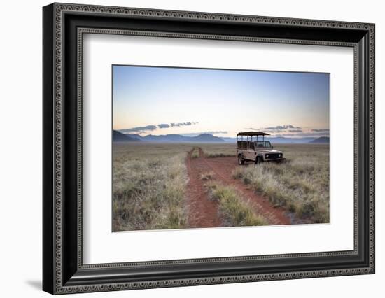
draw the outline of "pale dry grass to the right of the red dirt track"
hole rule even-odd
[[[279,145],[288,162],[239,166],[232,173],[296,218],[329,222],[329,146]]]

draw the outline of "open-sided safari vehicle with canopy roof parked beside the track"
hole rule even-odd
[[[258,140],[258,136],[260,139]],[[261,137],[262,136],[262,137]],[[282,162],[283,152],[274,150],[270,141],[265,141],[265,132],[239,132],[237,134],[237,157],[238,164],[244,162]],[[254,137],[254,139],[253,139]]]

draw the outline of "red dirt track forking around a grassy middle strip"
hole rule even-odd
[[[290,225],[290,216],[283,208],[274,208],[268,199],[253,190],[248,189],[244,183],[232,178],[232,171],[239,166],[235,157],[204,157],[200,148],[200,157],[191,158],[191,152],[186,157],[188,171],[187,196],[190,206],[190,227],[221,227],[221,218],[218,216],[218,206],[211,201],[204,188],[202,173],[214,173],[214,178],[223,185],[231,185],[239,192],[253,208],[255,213],[263,215],[269,225]]]

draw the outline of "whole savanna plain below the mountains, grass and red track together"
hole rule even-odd
[[[239,166],[235,143],[113,143],[113,231],[329,222],[329,145],[274,149]]]

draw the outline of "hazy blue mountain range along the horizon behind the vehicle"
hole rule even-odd
[[[286,138],[283,136],[265,138],[271,143],[329,143],[328,136],[319,138],[304,137],[304,138]],[[235,143],[237,138],[218,137],[212,134],[200,134],[198,136],[183,136],[181,134],[162,134],[155,136],[148,134],[147,136],[139,136],[139,134],[122,134],[116,130],[113,131],[114,142],[130,142],[130,141],[148,141],[159,143]]]

